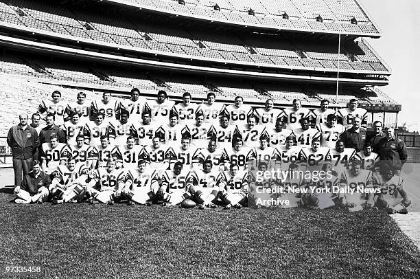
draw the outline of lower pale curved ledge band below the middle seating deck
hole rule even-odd
[[[294,82],[337,82],[336,77],[315,76],[313,74],[280,74],[258,71],[246,71],[240,68],[221,69],[216,67],[202,67],[188,64],[176,64],[173,61],[148,60],[133,56],[122,56],[106,52],[96,52],[93,49],[75,49],[67,46],[51,45],[38,41],[29,41],[23,38],[12,38],[0,35],[0,45],[9,49],[20,49],[29,53],[51,54],[55,56],[73,58],[76,60],[96,60],[105,64],[130,65],[132,67],[143,67],[150,69],[161,69],[165,71],[179,71],[190,74],[205,74],[215,76],[229,76],[238,78],[253,78],[259,80],[288,80]],[[387,85],[388,80],[377,80],[369,78],[345,78],[340,76],[338,80],[342,85],[361,86],[361,85]]]

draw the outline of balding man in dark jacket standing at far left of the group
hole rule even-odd
[[[27,114],[19,115],[20,123],[12,126],[8,133],[8,146],[12,148],[14,186],[20,186],[23,175],[32,168],[32,158],[39,146],[38,133],[27,124]]]

